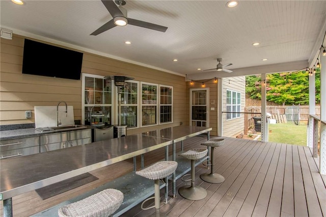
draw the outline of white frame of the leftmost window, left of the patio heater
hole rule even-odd
[[[102,78],[104,79],[104,76],[102,75],[95,75],[95,74],[88,74],[88,73],[82,73],[82,124],[85,124],[85,106],[95,106],[97,104],[85,104],[85,77],[93,77],[93,78]],[[111,118],[114,117],[114,114],[115,114],[115,108],[113,106],[113,102],[114,102],[114,99],[115,99],[115,93],[116,93],[116,89],[114,88],[114,84],[113,84],[113,81],[112,81],[112,92],[111,92],[111,104],[100,104],[100,105],[103,105],[103,106],[111,106]],[[115,119],[112,119],[111,120],[111,124],[115,124]]]

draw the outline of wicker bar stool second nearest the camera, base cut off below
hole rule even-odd
[[[147,210],[155,207],[154,216],[162,216],[159,214],[159,207],[160,207],[159,180],[162,178],[166,178],[172,173],[174,173],[177,167],[178,167],[178,162],[166,160],[166,161],[158,161],[155,164],[136,172],[137,175],[154,180],[154,197],[147,198],[146,200],[143,201],[141,205],[141,208],[143,210]],[[144,208],[143,207],[144,203],[151,199],[155,200],[155,205]]]

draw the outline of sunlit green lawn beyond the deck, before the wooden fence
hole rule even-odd
[[[307,121],[268,124],[268,142],[307,145]]]

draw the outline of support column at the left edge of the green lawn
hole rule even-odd
[[[268,123],[266,118],[266,74],[261,74],[261,141],[268,142]]]

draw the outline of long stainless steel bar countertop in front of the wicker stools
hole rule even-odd
[[[121,160],[171,145],[206,127],[177,126],[154,135],[134,134],[66,149],[0,160],[0,194],[8,199]],[[156,130],[155,130],[156,131]],[[154,131],[151,131],[154,133]]]

